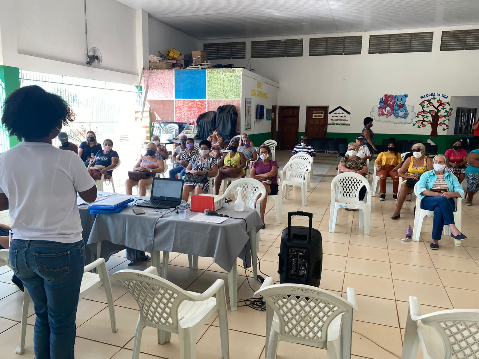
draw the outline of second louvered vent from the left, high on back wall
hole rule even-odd
[[[251,41],[251,57],[303,56],[303,39]]]

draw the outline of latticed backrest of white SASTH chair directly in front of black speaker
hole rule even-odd
[[[354,306],[337,294],[300,284],[276,284],[256,292],[273,308],[280,334],[300,340],[327,341],[331,321]]]

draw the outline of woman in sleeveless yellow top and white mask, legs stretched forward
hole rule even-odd
[[[426,147],[422,143],[412,145],[412,156],[404,160],[399,169],[399,177],[403,178],[401,190],[399,191],[398,202],[394,210],[392,219],[398,219],[401,215],[401,208],[406,199],[406,195],[414,188],[419,181],[419,177],[426,171],[433,169],[433,161],[425,155]]]

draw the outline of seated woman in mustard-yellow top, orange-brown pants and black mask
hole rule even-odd
[[[388,151],[381,152],[377,155],[374,165],[379,176],[379,201],[386,200],[386,179],[388,176],[392,178],[392,198],[398,200],[399,175],[398,169],[401,168],[402,159],[397,151],[396,140],[390,138],[388,142]]]

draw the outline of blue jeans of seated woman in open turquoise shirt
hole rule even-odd
[[[431,238],[440,240],[444,226],[454,224],[454,210],[456,209],[454,198],[425,196],[421,200],[421,208],[434,211],[433,236]]]

